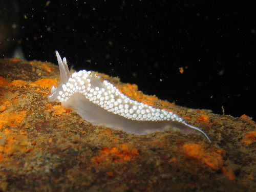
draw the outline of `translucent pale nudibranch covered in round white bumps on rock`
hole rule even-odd
[[[56,55],[60,84],[52,87],[49,101],[61,102],[63,107],[74,110],[93,125],[105,125],[135,135],[175,130],[198,134],[211,142],[202,130],[173,112],[130,99],[112,83],[102,82],[94,72],[81,70],[70,75],[67,59],[61,60],[57,51]]]

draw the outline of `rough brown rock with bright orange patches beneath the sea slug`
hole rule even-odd
[[[92,126],[49,102],[58,67],[0,60],[0,191],[253,191],[256,124],[143,95],[98,74],[125,95],[174,111],[207,133],[134,136]]]

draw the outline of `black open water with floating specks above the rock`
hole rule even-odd
[[[223,106],[225,114],[255,120],[256,9],[248,3],[9,2],[6,14],[19,8],[13,41],[27,60],[57,64],[58,50],[75,70],[119,76],[188,108],[223,114]]]

